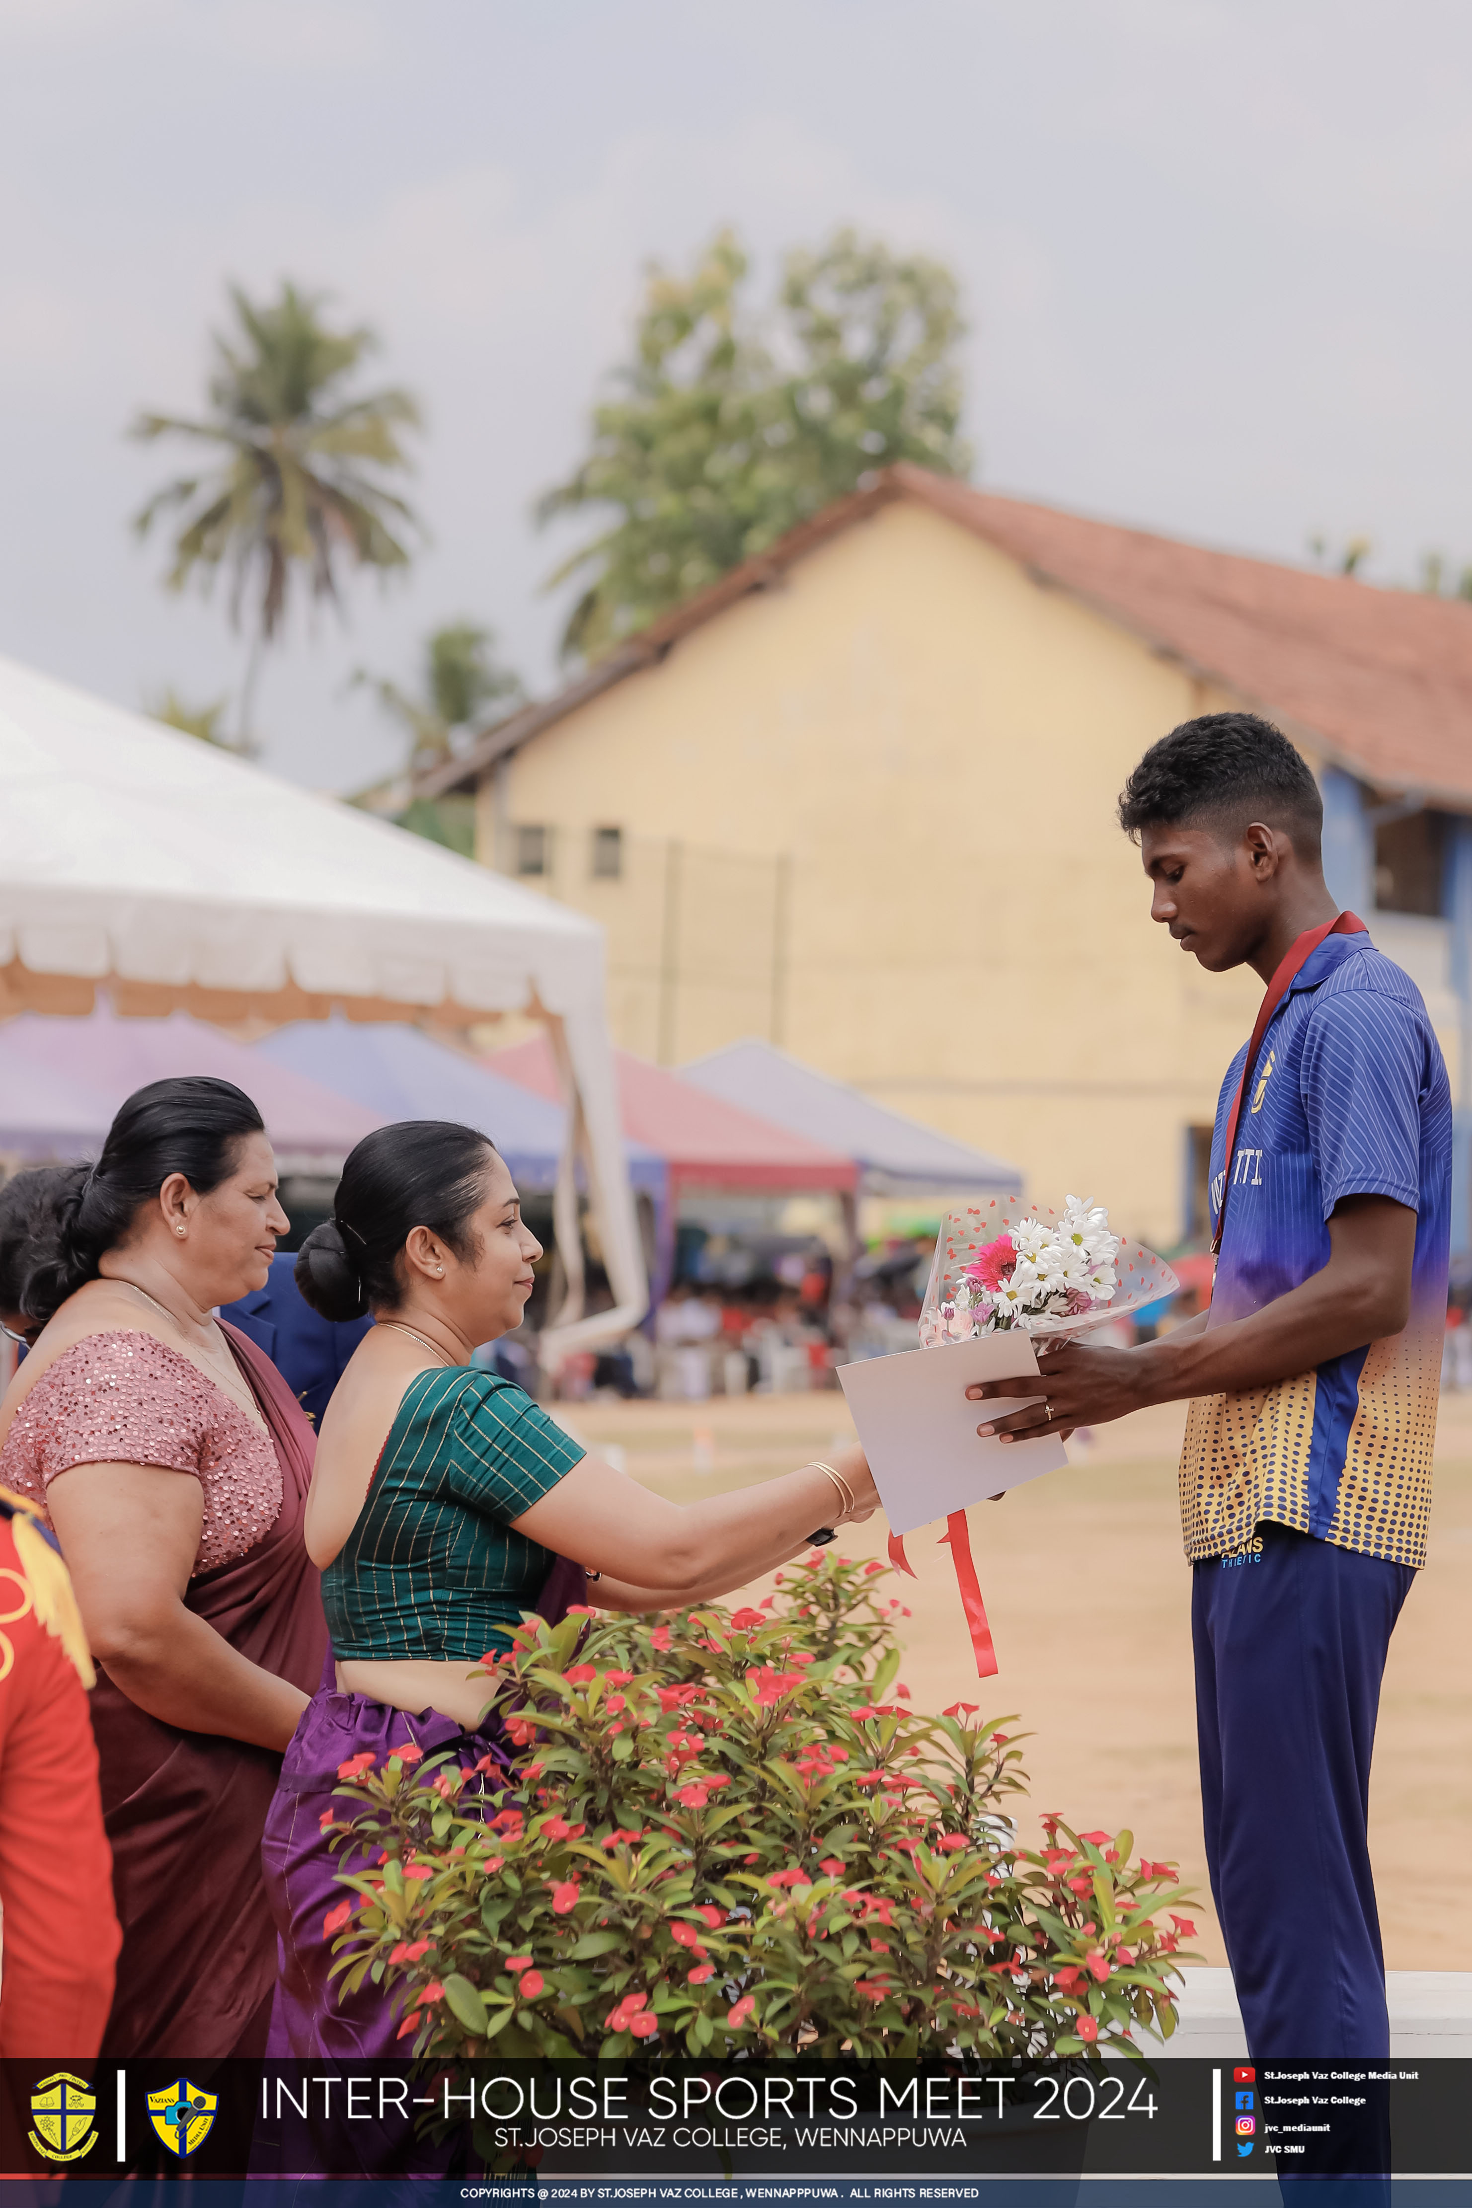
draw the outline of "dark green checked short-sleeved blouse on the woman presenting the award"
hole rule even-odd
[[[322,1572],[333,1654],[474,1663],[508,1649],[554,1563],[510,1519],[583,1455],[512,1380],[470,1365],[410,1380],[358,1524]]]

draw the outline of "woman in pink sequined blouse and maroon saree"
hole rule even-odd
[[[252,2056],[276,1978],[260,1833],[327,1647],[302,1543],[311,1429],[212,1316],[265,1285],[287,1228],[276,1164],[249,1097],[172,1080],[124,1104],[90,1172],[51,1181],[0,1486],[53,1526],[102,1667],[124,1925],[102,2051]]]

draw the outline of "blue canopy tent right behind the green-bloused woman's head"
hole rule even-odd
[[[417,1027],[296,1020],[256,1049],[384,1119],[459,1119],[481,1128],[527,1195],[547,1195],[556,1183],[567,1126],[563,1106],[488,1073]],[[627,1139],[625,1157],[633,1188],[662,1201],[664,1159]]]

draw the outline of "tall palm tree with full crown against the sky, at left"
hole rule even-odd
[[[232,570],[230,618],[252,607],[252,647],[236,742],[249,746],[260,654],[278,634],[294,574],[313,598],[340,601],[338,563],[388,572],[408,565],[410,508],[382,481],[406,468],[397,431],[419,422],[406,391],[351,395],[344,386],[377,344],[371,329],[333,331],[322,294],[282,283],[256,305],[230,287],[238,331],[214,333],[210,406],[203,420],[143,413],[132,435],[192,437],[221,450],[221,464],[166,484],[135,517],[139,537],[170,510],[181,514],[168,583],[183,590],[199,574],[205,592]]]

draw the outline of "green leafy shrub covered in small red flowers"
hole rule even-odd
[[[1156,1923],[1174,1870],[1055,1813],[1028,1848],[1011,1720],[887,1700],[874,1565],[828,1550],[783,1579],[735,1618],[523,1625],[486,1669],[534,1749],[514,1791],[433,1760],[344,1766],[338,1841],[373,1870],[342,1872],[333,1970],[402,2003],[415,2053],[1119,2056],[1170,2036],[1194,1932]]]

